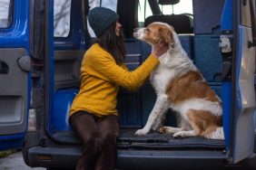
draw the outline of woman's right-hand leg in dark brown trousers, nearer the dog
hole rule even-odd
[[[95,170],[113,170],[116,160],[116,138],[119,136],[119,120],[116,116],[105,116],[98,121],[103,138],[103,147]]]

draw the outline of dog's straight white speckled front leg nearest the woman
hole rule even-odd
[[[153,127],[158,128],[161,126],[161,119],[164,117],[166,110],[169,108],[169,101],[166,95],[159,95],[153,106],[153,110],[147,120],[146,125],[135,132],[135,135],[148,134]]]

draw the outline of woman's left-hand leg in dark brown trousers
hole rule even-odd
[[[94,170],[97,156],[101,151],[102,138],[93,115],[76,113],[70,118],[75,134],[83,142],[82,156],[78,159],[76,170]]]

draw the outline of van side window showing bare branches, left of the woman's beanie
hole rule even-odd
[[[54,0],[54,37],[70,33],[71,0]]]

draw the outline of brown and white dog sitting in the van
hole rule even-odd
[[[150,77],[157,94],[156,102],[146,125],[135,135],[159,130],[161,133],[173,133],[173,137],[224,139],[222,100],[182,49],[172,26],[155,22],[137,29],[133,35],[152,47],[161,41],[169,44],[169,49],[160,56],[160,64]],[[169,108],[179,113],[178,127],[162,127],[162,119]]]

